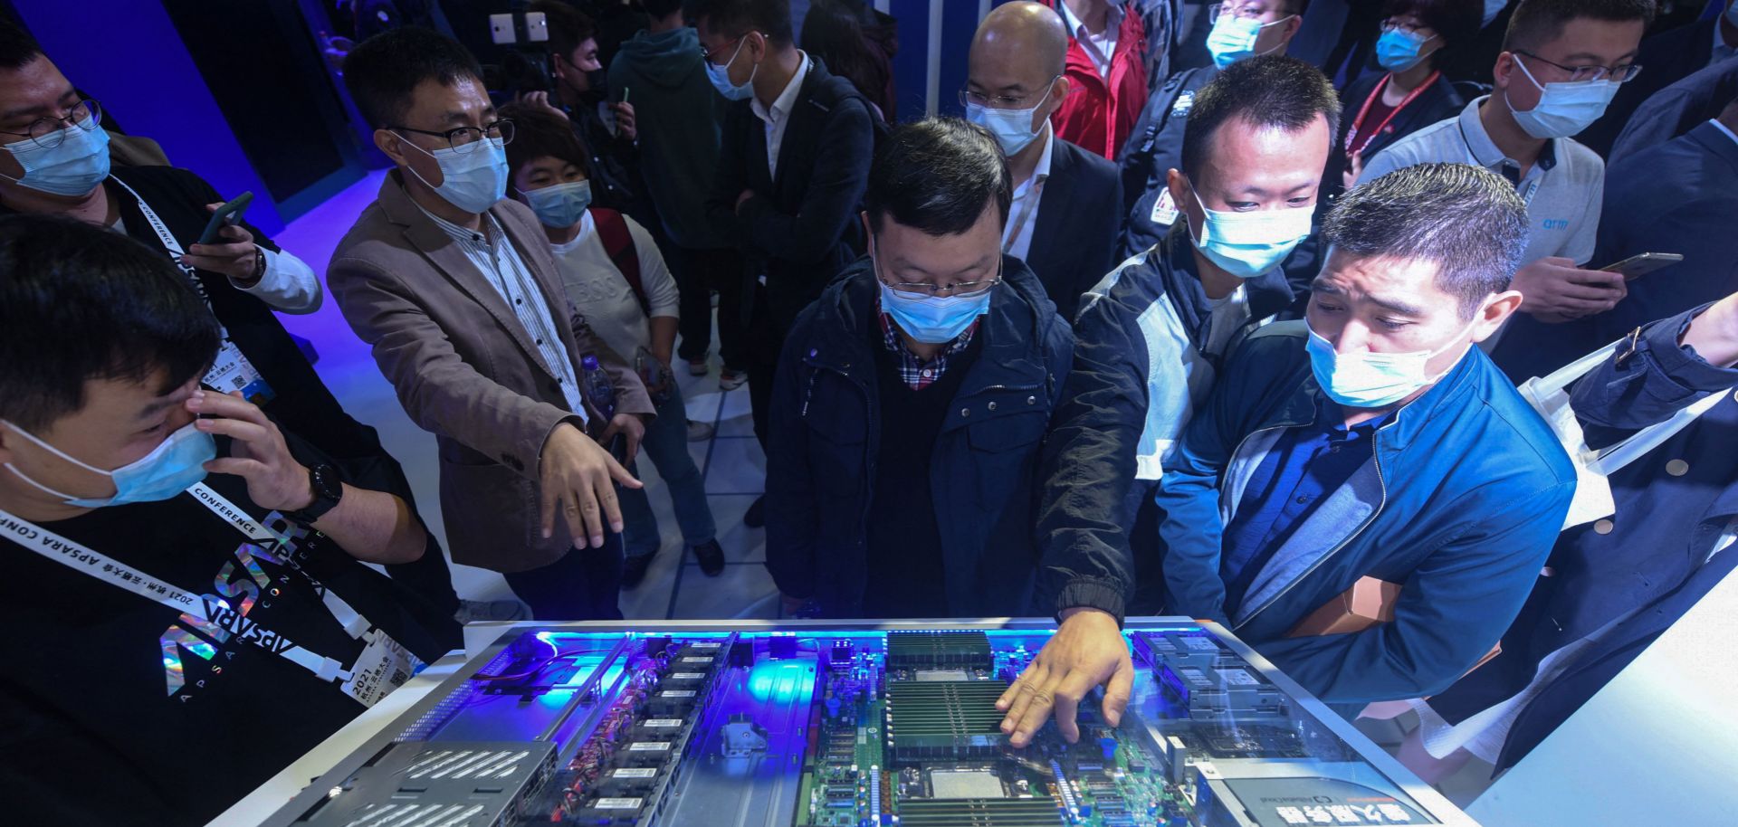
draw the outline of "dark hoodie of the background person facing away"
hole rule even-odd
[[[641,170],[669,238],[688,248],[730,247],[702,205],[718,167],[725,99],[706,78],[699,35],[687,26],[634,35],[610,61],[610,96],[627,96],[634,108]]]

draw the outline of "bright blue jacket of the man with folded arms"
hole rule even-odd
[[[1224,526],[1286,427],[1324,415],[1302,321],[1251,334],[1184,431],[1158,502],[1171,613],[1231,629],[1328,704],[1446,690],[1526,601],[1575,495],[1545,422],[1477,347],[1375,434],[1373,462],[1321,500],[1227,617]],[[1328,407],[1331,410],[1331,407]],[[1394,622],[1286,638],[1361,577],[1403,586]]]

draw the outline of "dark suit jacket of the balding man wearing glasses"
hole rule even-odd
[[[1062,320],[1072,325],[1081,294],[1114,264],[1116,235],[1123,229],[1123,186],[1116,165],[1058,137],[1032,221],[1025,264],[1045,283]]]

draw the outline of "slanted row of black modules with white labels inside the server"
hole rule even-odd
[[[706,731],[725,681],[735,636],[726,641],[647,641],[634,674],[567,770],[567,791],[551,822],[641,827],[664,810],[683,756]]]

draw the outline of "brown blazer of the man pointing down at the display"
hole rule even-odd
[[[525,572],[561,559],[572,539],[556,519],[544,539],[537,455],[549,431],[579,417],[542,367],[518,316],[464,250],[405,193],[396,170],[339,241],[327,288],[349,327],[374,347],[405,414],[440,445],[440,504],[454,563]],[[502,200],[490,214],[525,259],[560,320],[561,344],[579,370],[596,353],[617,389],[619,414],[652,415],[640,377],[593,335],[556,275],[549,240],[525,205]],[[589,410],[593,422],[601,417]]]

